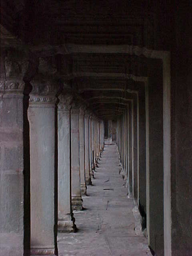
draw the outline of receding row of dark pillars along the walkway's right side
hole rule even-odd
[[[147,234],[150,248],[163,255],[163,92],[157,82],[156,88],[158,94],[152,86],[132,93],[113,125],[128,198],[134,199],[135,210],[140,212],[141,231]]]

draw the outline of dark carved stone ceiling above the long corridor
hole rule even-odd
[[[150,73],[150,52],[166,47],[158,23],[166,6],[150,1],[8,0],[2,7],[1,45],[40,57],[39,72],[61,77],[103,119],[124,111]]]

